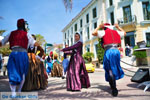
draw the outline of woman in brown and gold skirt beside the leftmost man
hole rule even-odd
[[[32,37],[36,41],[36,36],[32,34]],[[35,54],[37,53],[38,55],[36,56]],[[22,89],[23,91],[45,89],[47,87],[47,74],[44,74],[45,68],[41,61],[42,56],[44,56],[44,50],[41,46],[29,45],[29,69]]]

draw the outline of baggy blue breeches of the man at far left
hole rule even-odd
[[[12,52],[9,56],[7,70],[11,85],[21,83],[23,74],[27,75],[29,60],[27,52]]]

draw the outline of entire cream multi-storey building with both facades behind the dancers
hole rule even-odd
[[[71,46],[74,34],[79,32],[83,39],[83,53],[93,52],[97,61],[98,38],[93,30],[102,22],[118,23],[127,35],[122,38],[122,47],[135,46],[145,41],[150,45],[150,0],[92,0],[62,30],[63,44]],[[125,50],[124,50],[125,51]]]

